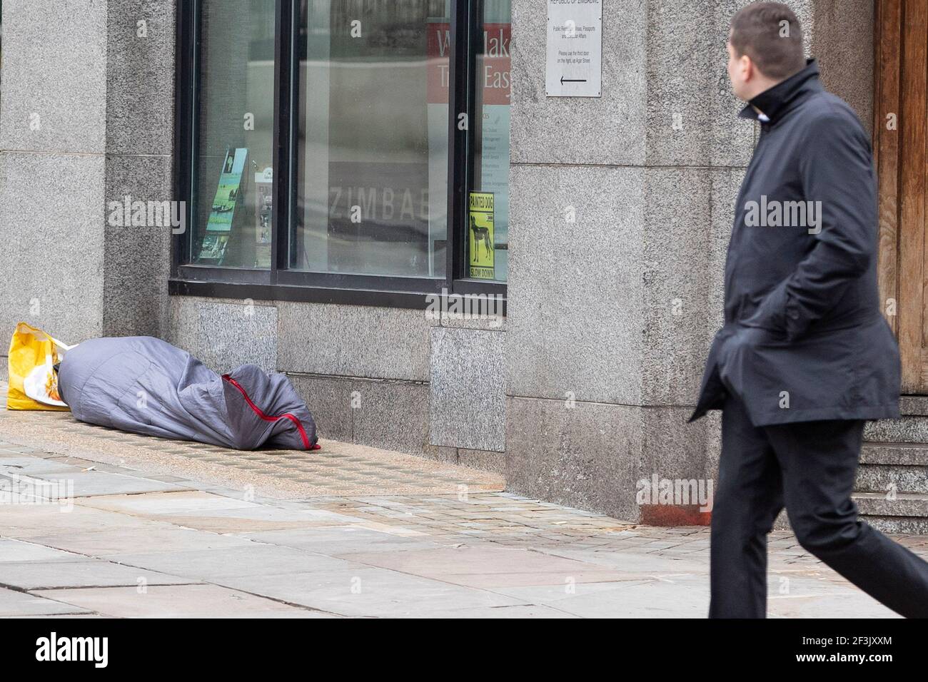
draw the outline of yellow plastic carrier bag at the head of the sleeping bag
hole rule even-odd
[[[42,329],[20,322],[9,343],[6,409],[68,409],[58,394],[58,372],[54,367],[71,348]]]

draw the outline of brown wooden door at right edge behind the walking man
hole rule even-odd
[[[877,0],[875,19],[880,292],[899,340],[902,392],[928,394],[928,0]]]

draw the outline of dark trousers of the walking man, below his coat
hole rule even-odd
[[[928,563],[857,520],[860,420],[754,427],[728,397],[712,511],[710,618],[767,614],[767,533],[786,507],[799,543],[871,597],[928,617]]]

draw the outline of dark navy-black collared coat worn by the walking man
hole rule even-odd
[[[899,352],[877,292],[866,133],[822,88],[815,60],[741,117],[759,120],[761,135],[735,206],[725,325],[690,421],[720,408],[728,391],[754,426],[898,417]]]

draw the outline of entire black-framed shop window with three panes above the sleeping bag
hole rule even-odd
[[[179,4],[174,293],[505,294],[510,0]]]

